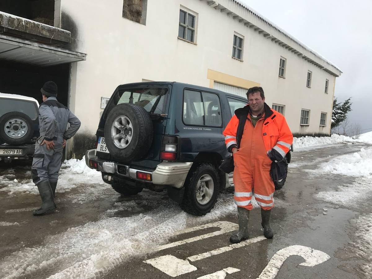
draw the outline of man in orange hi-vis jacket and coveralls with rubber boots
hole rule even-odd
[[[291,148],[293,135],[283,115],[270,109],[264,102],[262,87],[251,87],[247,92],[248,105],[235,110],[223,134],[227,150],[234,157],[234,201],[238,206],[239,231],[230,242],[239,243],[249,238],[249,212],[252,190],[261,206],[263,233],[272,238],[271,209],[274,206],[275,186],[270,176],[273,161],[281,161]]]

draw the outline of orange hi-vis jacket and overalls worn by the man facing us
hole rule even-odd
[[[263,117],[253,127],[249,106],[235,110],[225,128],[225,143],[234,153],[234,201],[238,206],[252,209],[252,190],[257,203],[264,210],[274,206],[275,186],[270,176],[272,160],[282,160],[291,148],[293,135],[283,115],[264,104]],[[268,154],[274,153],[275,159]]]

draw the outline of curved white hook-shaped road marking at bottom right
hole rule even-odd
[[[301,245],[288,246],[279,250],[274,256],[272,256],[270,262],[257,279],[274,279],[285,260],[294,255],[301,256],[305,259],[305,262],[300,263],[299,265],[310,267],[316,266],[317,264],[330,259],[328,254],[310,247]]]

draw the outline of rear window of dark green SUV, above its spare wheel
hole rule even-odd
[[[147,112],[163,114],[168,88],[145,87],[119,90],[113,97],[114,105],[129,103],[141,106]]]

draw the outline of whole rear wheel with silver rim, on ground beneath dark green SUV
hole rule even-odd
[[[186,178],[181,208],[192,215],[205,215],[214,207],[218,192],[216,168],[209,163],[197,164]]]

